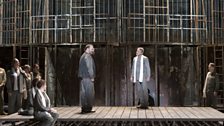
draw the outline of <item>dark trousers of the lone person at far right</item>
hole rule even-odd
[[[214,96],[212,91],[206,92],[206,106],[216,107],[216,96]]]

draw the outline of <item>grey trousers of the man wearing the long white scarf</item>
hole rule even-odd
[[[136,99],[140,99],[140,107],[146,108],[148,106],[148,89],[146,83],[137,81],[135,84],[137,86]]]

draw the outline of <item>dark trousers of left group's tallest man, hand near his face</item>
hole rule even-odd
[[[10,93],[11,95],[8,96],[8,113],[12,114],[18,112],[18,110],[22,107],[22,99],[19,91],[12,91]]]

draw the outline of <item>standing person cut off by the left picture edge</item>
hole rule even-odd
[[[1,68],[1,62],[0,62],[0,114],[5,115],[4,112],[4,86],[6,82],[6,73],[5,69]]]

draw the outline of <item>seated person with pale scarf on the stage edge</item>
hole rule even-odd
[[[40,126],[54,126],[58,114],[57,111],[50,106],[50,99],[46,91],[46,82],[40,80],[37,82],[37,91],[34,98],[34,118],[40,121]]]

